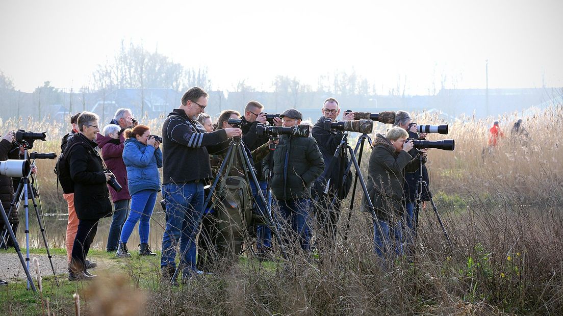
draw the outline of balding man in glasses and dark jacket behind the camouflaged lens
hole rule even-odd
[[[323,240],[319,241],[319,246],[322,247],[323,243],[326,243],[328,249],[334,246],[334,241],[336,240],[336,225],[338,223],[338,218],[340,216],[340,207],[342,199],[346,197],[348,191],[352,184],[352,173],[348,172],[346,177],[346,182],[342,182],[342,178],[338,177],[340,168],[346,168],[348,165],[347,156],[345,159],[341,160],[340,157],[334,162],[330,170],[330,163],[336,152],[336,148],[340,145],[344,134],[341,131],[325,130],[324,121],[325,119],[330,119],[333,122],[337,121],[337,117],[340,114],[340,107],[338,101],[335,98],[327,98],[323,103],[323,116],[316,122],[315,126],[311,130],[312,136],[319,145],[319,150],[323,154],[323,160],[325,165],[324,173],[325,179],[319,179],[319,182],[315,183],[314,193],[319,195],[320,207],[318,207],[317,220],[321,228],[321,235],[324,237]],[[354,112],[350,112],[347,115],[342,116],[342,120],[350,121],[354,120]],[[346,153],[347,155],[347,153]],[[326,196],[322,195],[324,187],[319,184],[324,184],[324,181],[328,181],[328,194]],[[341,191],[339,191],[341,190]],[[320,191],[320,192],[319,192]],[[338,194],[341,193],[341,194]],[[334,197],[336,198],[336,203],[330,205],[330,202]]]

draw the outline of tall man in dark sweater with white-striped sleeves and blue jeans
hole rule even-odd
[[[185,279],[198,273],[196,236],[204,212],[203,186],[205,180],[212,178],[209,152],[221,153],[225,147],[216,145],[228,145],[227,138],[242,136],[239,128],[205,131],[197,119],[207,106],[208,96],[202,88],[188,89],[182,96],[180,107],[168,114],[162,126],[162,192],[166,203],[166,229],[160,258],[163,279],[171,277],[176,270],[175,247],[178,242],[182,277]]]

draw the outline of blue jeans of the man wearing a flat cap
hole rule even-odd
[[[309,198],[280,200],[279,213],[282,216],[282,236],[285,245],[299,241],[301,249],[307,254],[311,251],[310,205]],[[296,238],[297,237],[297,238]]]

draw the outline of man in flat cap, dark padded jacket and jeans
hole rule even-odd
[[[284,127],[298,125],[303,118],[296,109],[286,110],[281,116]],[[290,242],[289,238],[298,239],[306,254],[311,250],[311,183],[323,169],[323,155],[315,138],[280,136],[274,151],[272,193],[278,199],[280,215],[285,222],[282,233],[285,243]]]

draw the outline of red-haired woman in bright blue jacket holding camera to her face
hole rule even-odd
[[[162,168],[162,151],[160,142],[150,136],[150,130],[145,125],[137,125],[124,132],[126,141],[123,148],[123,162],[127,169],[128,187],[131,194],[131,211],[119,238],[118,257],[129,257],[127,240],[133,228],[140,220],[139,236],[141,249],[139,255],[155,256],[149,248],[150,216],[153,214],[157,201],[157,191],[160,187]]]

